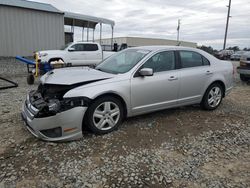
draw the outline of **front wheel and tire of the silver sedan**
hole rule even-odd
[[[106,134],[117,129],[123,117],[124,109],[121,101],[112,96],[105,96],[90,105],[84,123],[93,133]]]

